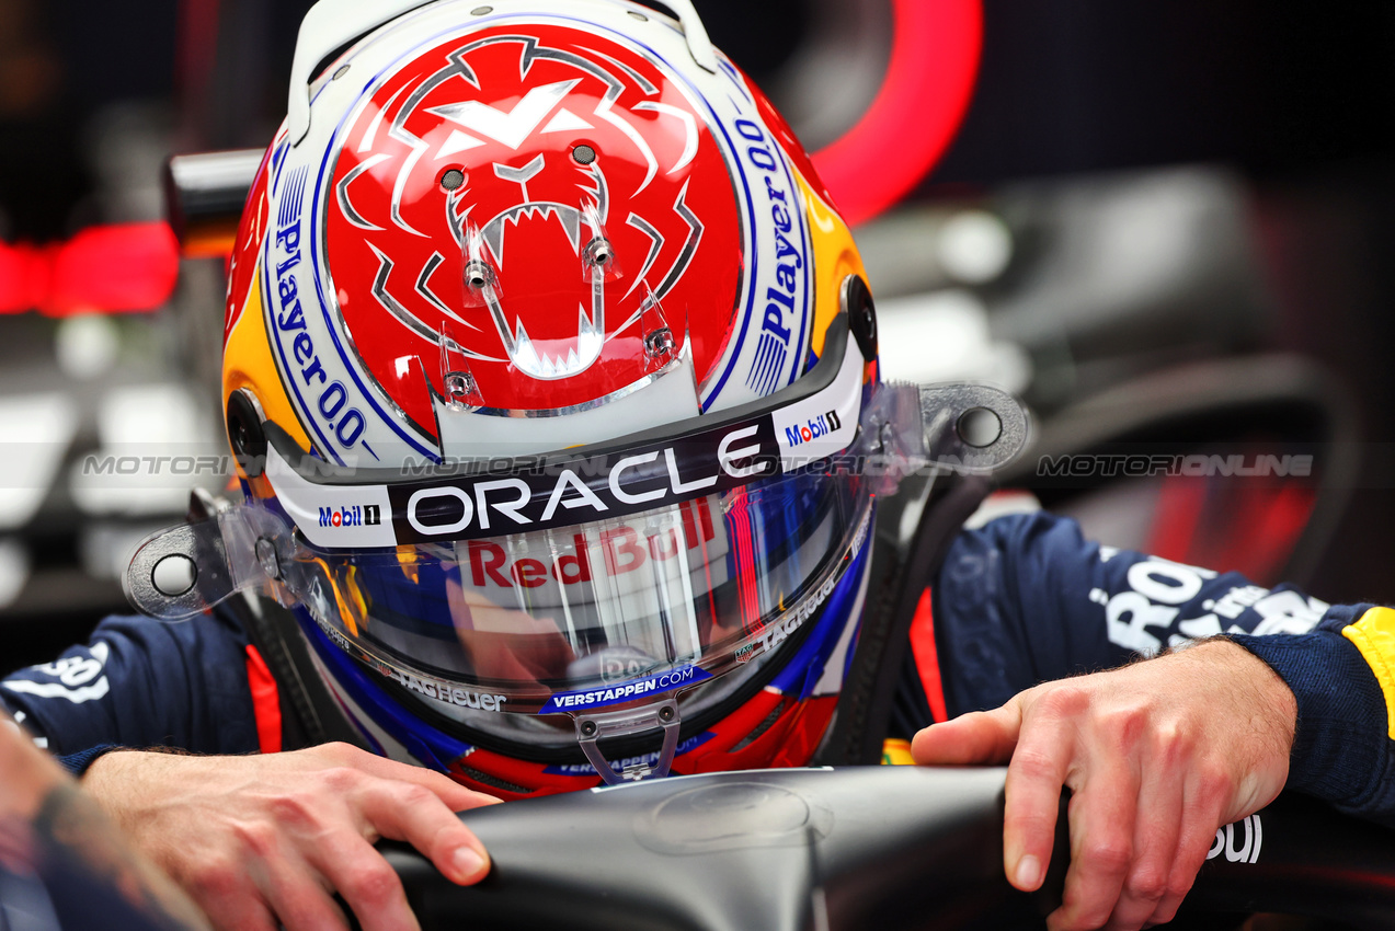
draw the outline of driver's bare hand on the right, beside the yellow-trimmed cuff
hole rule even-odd
[[[1258,811],[1289,774],[1297,704],[1243,647],[1204,643],[1052,682],[919,732],[919,764],[1007,768],[1003,865],[1023,891],[1050,863],[1070,786],[1070,870],[1052,931],[1169,921],[1216,828]]]

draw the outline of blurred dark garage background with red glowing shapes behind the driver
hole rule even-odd
[[[84,463],[223,449],[223,262],[180,258],[162,170],[266,145],[308,6],[0,0],[0,672],[123,610],[133,545],[225,481]],[[1009,485],[1116,545],[1395,601],[1395,6],[696,6],[862,219],[887,376],[1031,404]]]

